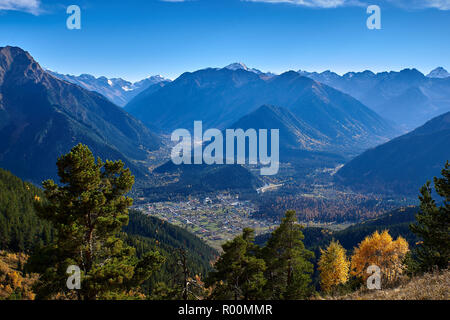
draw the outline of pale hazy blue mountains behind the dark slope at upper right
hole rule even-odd
[[[404,131],[450,111],[450,77],[444,78],[443,68],[428,76],[416,69],[349,72],[343,76],[331,71],[299,73],[350,94]]]

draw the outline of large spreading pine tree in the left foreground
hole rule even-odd
[[[30,261],[41,273],[38,298],[55,295],[79,299],[115,299],[148,279],[163,258],[148,252],[140,260],[118,234],[128,224],[134,177],[122,161],[95,161],[87,146],[78,144],[57,161],[61,186],[43,182],[45,199],[36,201],[38,215],[56,229],[53,244]],[[68,290],[69,265],[81,269],[81,289]],[[76,294],[75,294],[76,292]]]

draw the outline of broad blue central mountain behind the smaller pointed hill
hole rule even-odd
[[[293,71],[270,78],[227,68],[184,73],[125,109],[170,132],[191,130],[195,120],[204,128],[224,129],[264,104],[286,108],[305,128],[354,152],[395,135],[387,121],[356,99]]]

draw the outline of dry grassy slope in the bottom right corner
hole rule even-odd
[[[413,279],[404,278],[395,288],[385,290],[361,289],[338,300],[450,300],[450,270],[427,273]]]

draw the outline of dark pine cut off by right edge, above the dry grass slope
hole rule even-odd
[[[442,178],[434,178],[437,194],[443,205],[438,207],[432,198],[431,183],[428,181],[419,196],[420,211],[417,222],[410,226],[422,242],[414,251],[418,271],[430,271],[437,267],[448,268],[450,261],[450,164],[447,161]]]

